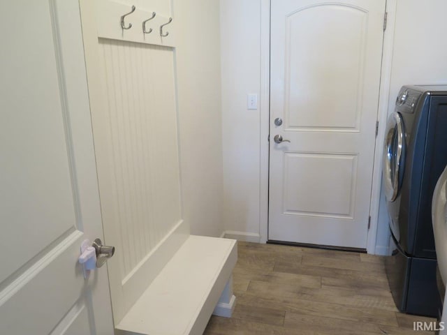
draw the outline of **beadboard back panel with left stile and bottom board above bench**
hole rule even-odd
[[[95,3],[81,3],[105,243],[117,250],[108,263],[116,325],[189,234],[175,50],[101,38]]]

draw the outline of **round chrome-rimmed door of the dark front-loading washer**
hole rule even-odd
[[[404,122],[398,112],[388,119],[383,150],[383,185],[386,199],[396,200],[404,177],[405,140]]]

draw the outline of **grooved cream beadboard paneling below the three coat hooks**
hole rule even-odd
[[[99,40],[122,281],[182,219],[174,52]]]

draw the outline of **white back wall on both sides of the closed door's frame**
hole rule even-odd
[[[402,84],[447,82],[445,13],[445,0],[397,0],[391,73],[383,73],[390,78],[388,112]],[[259,112],[247,110],[247,94],[259,93],[261,86],[260,40],[261,1],[221,0],[224,229],[249,240],[260,232],[261,124]],[[382,205],[376,252],[388,251],[387,220]]]

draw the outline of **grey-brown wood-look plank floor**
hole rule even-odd
[[[380,256],[238,242],[232,318],[212,316],[205,335],[414,334],[399,313]]]

